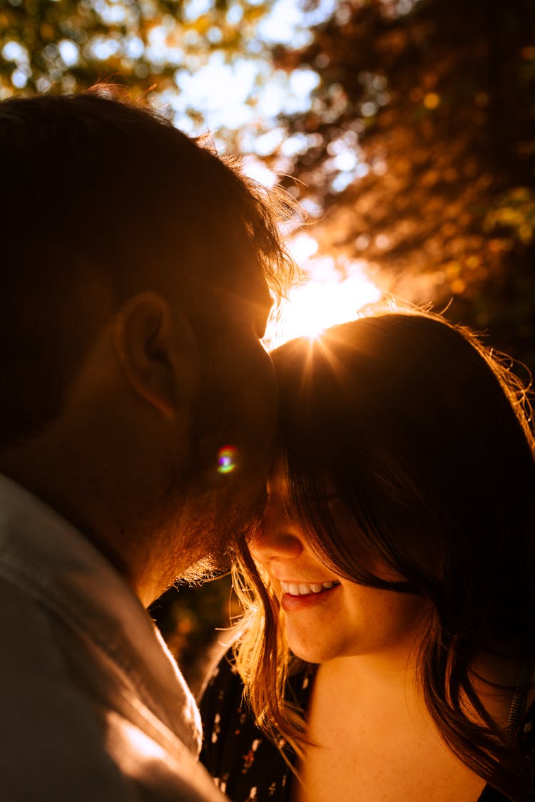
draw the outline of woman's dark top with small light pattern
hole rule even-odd
[[[231,659],[229,653],[221,659],[201,698],[205,733],[201,762],[232,802],[290,802],[294,775],[278,747],[257,728],[252,712],[243,703],[243,685]],[[296,700],[304,709],[313,680],[314,670],[310,669],[290,680]],[[529,708],[517,738],[525,748],[533,776],[535,704]],[[295,753],[284,739],[279,746],[294,764]],[[478,802],[507,802],[507,797],[487,785]]]

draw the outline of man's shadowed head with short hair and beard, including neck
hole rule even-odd
[[[134,585],[132,553],[151,562],[167,539],[168,581],[178,547],[178,569],[204,556],[263,484],[275,405],[258,338],[268,285],[291,277],[276,212],[109,96],[0,103],[0,149],[0,467]],[[218,473],[226,446],[236,468]]]

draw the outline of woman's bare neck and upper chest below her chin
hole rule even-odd
[[[311,745],[298,765],[294,802],[473,802],[483,790],[441,739],[414,659],[322,663],[307,713]]]

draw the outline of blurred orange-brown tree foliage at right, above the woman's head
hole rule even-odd
[[[274,59],[321,76],[286,120],[302,143],[286,183],[322,218],[322,251],[367,261],[403,298],[451,302],[535,371],[533,0],[340,2]]]

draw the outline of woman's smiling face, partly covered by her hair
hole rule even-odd
[[[278,597],[290,649],[308,662],[366,654],[386,658],[391,668],[406,666],[419,642],[427,602],[337,576],[311,552],[289,506],[286,473],[278,460],[268,480],[262,530],[249,549]],[[384,579],[403,580],[391,569],[367,567]]]

